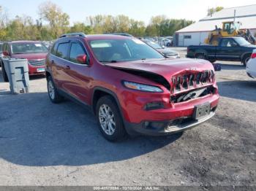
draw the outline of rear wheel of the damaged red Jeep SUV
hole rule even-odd
[[[50,76],[47,78],[47,89],[51,102],[53,102],[54,104],[59,104],[61,101],[63,101],[64,98],[58,93],[58,90],[54,85],[53,79]]]

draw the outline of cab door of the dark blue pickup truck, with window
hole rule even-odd
[[[240,55],[241,47],[231,38],[222,39],[216,50],[217,60],[239,61]]]

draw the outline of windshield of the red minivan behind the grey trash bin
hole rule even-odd
[[[47,47],[39,42],[18,42],[12,43],[12,53],[13,54],[29,54],[29,53],[39,53],[48,52]]]

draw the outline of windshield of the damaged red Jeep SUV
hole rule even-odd
[[[157,50],[139,39],[93,40],[90,46],[98,61],[102,63],[164,58]]]

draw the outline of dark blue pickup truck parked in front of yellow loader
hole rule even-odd
[[[187,58],[199,58],[215,61],[241,61],[246,66],[255,45],[250,44],[243,37],[225,37],[219,39],[217,46],[199,45],[187,47]]]

